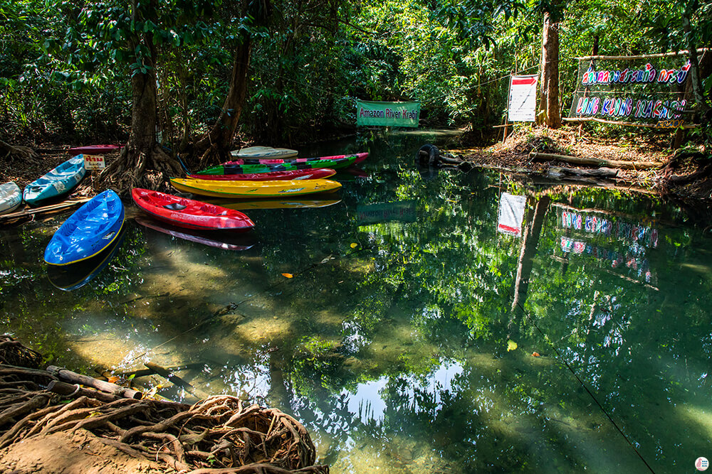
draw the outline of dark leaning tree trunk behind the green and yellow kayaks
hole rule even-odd
[[[245,104],[247,95],[247,72],[250,63],[252,41],[248,34],[242,37],[235,51],[230,75],[230,89],[220,117],[213,128],[195,145],[197,154],[201,155],[199,166],[203,168],[211,162],[224,161],[229,155],[229,147],[235,136],[237,124]]]

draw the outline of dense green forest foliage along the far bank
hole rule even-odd
[[[155,47],[169,143],[214,123],[244,35],[253,48],[237,138],[272,144],[352,129],[355,99],[418,100],[428,125],[501,123],[508,74],[538,71],[544,12],[561,19],[564,112],[577,56],[712,45],[709,1],[173,0],[140,22],[131,8],[118,0],[0,0],[0,139],[125,140],[130,77],[145,72],[150,53],[132,46],[142,33]],[[266,24],[244,13],[255,8],[271,12]],[[703,85],[707,97],[711,87]]]

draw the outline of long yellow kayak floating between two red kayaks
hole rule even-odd
[[[278,181],[214,181],[194,178],[171,178],[179,191],[216,198],[278,198],[313,193],[327,193],[341,188],[341,183],[328,179]]]

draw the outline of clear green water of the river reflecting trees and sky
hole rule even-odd
[[[333,473],[674,473],[712,458],[712,239],[697,215],[420,171],[420,146],[449,139],[300,150],[370,151],[368,176],[340,173],[325,207],[245,211],[256,229],[242,250],[131,218],[73,291],[41,258],[66,215],[0,229],[0,330],[88,374],[197,363],[176,372],[194,394],[135,382],[277,406]],[[540,232],[497,231],[503,192],[540,203]]]

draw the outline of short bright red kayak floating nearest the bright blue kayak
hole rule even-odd
[[[188,229],[248,230],[255,227],[249,217],[238,210],[180,198],[142,188],[133,188],[134,203],[153,217]]]

